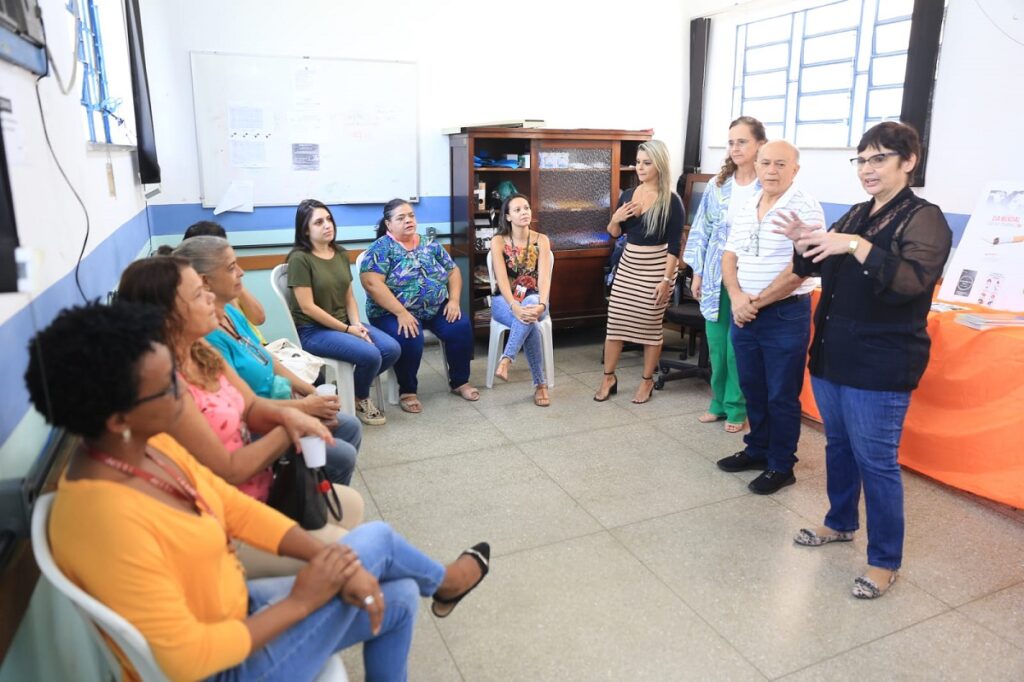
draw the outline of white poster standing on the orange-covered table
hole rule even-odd
[[[946,268],[939,298],[993,310],[1024,310],[1024,181],[995,182]]]

